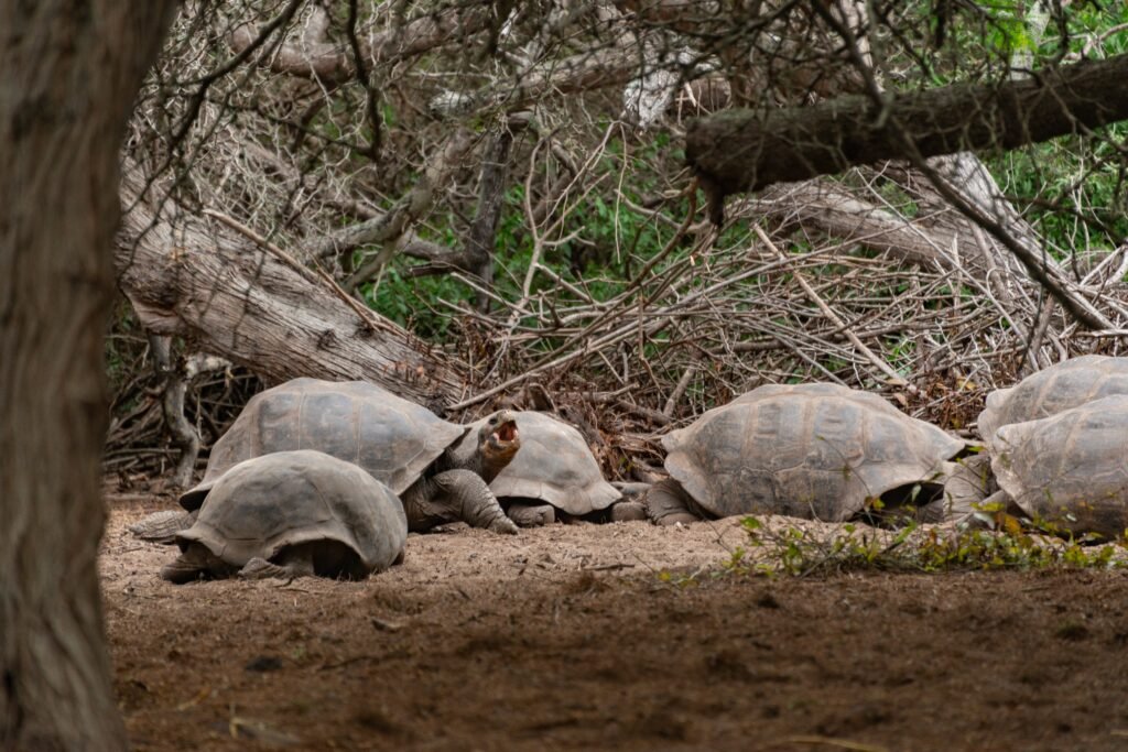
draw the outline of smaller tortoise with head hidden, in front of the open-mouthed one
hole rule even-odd
[[[321,452],[276,452],[238,462],[176,534],[180,556],[161,569],[200,577],[360,580],[404,557],[407,517],[391,489]]]

